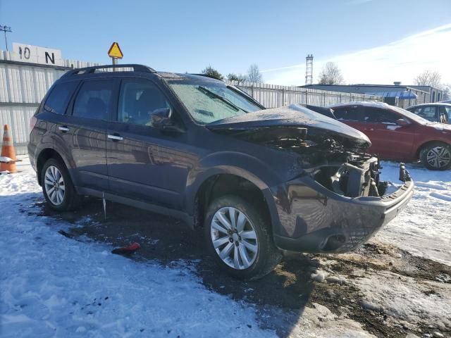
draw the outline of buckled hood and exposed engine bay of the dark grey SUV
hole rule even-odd
[[[207,127],[221,134],[297,154],[305,173],[340,196],[382,197],[378,158],[366,154],[369,138],[333,118],[291,105],[218,120]],[[410,180],[402,165],[400,180]]]

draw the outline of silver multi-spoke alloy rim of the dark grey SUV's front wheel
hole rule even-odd
[[[245,270],[257,258],[257,232],[245,213],[224,207],[216,211],[211,224],[211,242],[219,258],[230,268]]]

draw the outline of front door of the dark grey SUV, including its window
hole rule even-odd
[[[181,209],[190,168],[187,134],[154,127],[152,113],[161,108],[173,110],[154,82],[122,80],[116,122],[107,130],[109,184],[113,193]]]

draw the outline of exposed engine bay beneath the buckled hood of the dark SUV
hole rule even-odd
[[[381,165],[378,158],[364,152],[366,144],[356,144],[335,132],[291,126],[222,132],[248,142],[302,154],[299,157],[302,166],[316,182],[335,194],[347,197],[381,197],[387,191],[388,182],[380,180]],[[400,173],[400,180],[403,182],[409,180],[405,168],[404,171],[404,174]]]

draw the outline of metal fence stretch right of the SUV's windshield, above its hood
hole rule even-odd
[[[330,92],[321,89],[278,86],[276,84],[226,81],[244,90],[266,108],[276,108],[289,104],[311,104],[328,106],[350,101],[382,101],[381,96]]]

